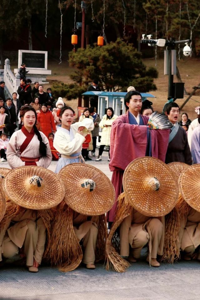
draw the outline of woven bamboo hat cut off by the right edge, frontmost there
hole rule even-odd
[[[179,178],[179,190],[185,201],[200,212],[200,164],[187,168]]]

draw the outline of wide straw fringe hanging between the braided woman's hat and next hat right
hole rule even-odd
[[[83,258],[81,246],[73,230],[73,210],[64,201],[57,207],[46,257],[62,272],[73,271]]]

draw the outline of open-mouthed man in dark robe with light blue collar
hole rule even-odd
[[[169,121],[174,124],[169,135],[165,163],[181,162],[191,165],[192,155],[187,142],[187,133],[177,122],[180,114],[178,104],[175,102],[166,103],[163,111],[168,116]]]

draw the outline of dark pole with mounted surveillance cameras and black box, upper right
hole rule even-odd
[[[165,41],[165,42],[164,42]],[[178,44],[189,44],[191,42],[190,39],[182,40],[182,41],[175,41],[173,38],[169,40],[165,39],[158,39],[154,40],[152,35],[142,35],[142,39],[140,41],[143,44],[148,44],[148,46],[159,46],[164,47],[166,46],[165,50],[165,63],[164,63],[164,75],[168,75],[168,99],[173,98],[175,101],[177,98],[183,98],[184,92],[184,83],[174,83],[173,82],[173,75],[176,75],[176,50],[175,47]],[[186,46],[188,47],[188,46]],[[185,48],[185,47],[184,47]],[[183,51],[184,51],[183,48]],[[191,51],[191,49],[190,49]],[[188,56],[190,51],[184,51],[183,54]]]

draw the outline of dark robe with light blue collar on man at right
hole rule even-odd
[[[178,123],[174,124],[169,136],[169,144],[165,163],[187,163],[192,164],[192,155],[187,142],[187,133]]]

